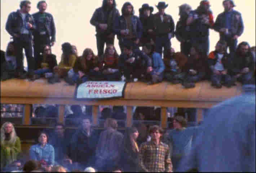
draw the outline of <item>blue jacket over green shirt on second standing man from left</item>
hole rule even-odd
[[[55,24],[54,24],[54,20],[53,20],[53,16],[50,13],[45,13],[46,14],[46,18],[47,20],[44,23],[40,23],[39,22],[39,17],[40,17],[40,12],[34,13],[32,14],[34,20],[35,20],[35,25],[37,28],[39,28],[39,25],[44,25],[49,36],[51,37],[51,41],[56,41],[56,28],[55,28]],[[39,34],[38,30],[35,30],[34,34]]]

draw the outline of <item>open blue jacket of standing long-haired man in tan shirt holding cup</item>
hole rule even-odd
[[[141,38],[142,32],[143,32],[143,26],[141,24],[140,19],[133,15],[132,16],[132,28],[133,28],[133,33],[136,35],[137,38]],[[121,15],[120,17],[116,17],[115,23],[113,25],[113,31],[117,35],[118,39],[122,38],[121,30],[127,29],[126,22],[124,19],[124,16]]]

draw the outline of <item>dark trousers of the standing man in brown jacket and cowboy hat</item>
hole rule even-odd
[[[162,55],[163,48],[164,51],[171,48],[171,40],[169,39],[168,34],[156,36],[155,38],[155,51]]]

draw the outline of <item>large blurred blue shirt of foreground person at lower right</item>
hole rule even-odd
[[[255,85],[214,106],[177,172],[255,172]]]

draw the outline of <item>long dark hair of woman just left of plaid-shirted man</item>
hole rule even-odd
[[[124,150],[137,152],[136,151],[136,146],[135,146],[135,140],[131,138],[131,134],[138,132],[136,127],[127,127],[124,133],[124,138],[123,138],[123,147]]]

